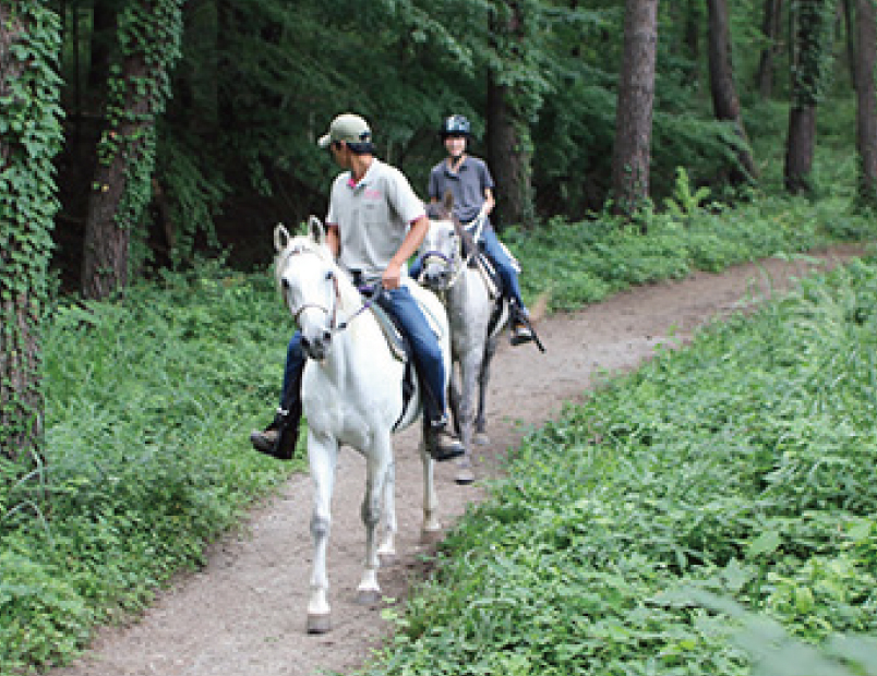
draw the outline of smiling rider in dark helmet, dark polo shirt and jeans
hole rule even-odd
[[[529,312],[520,297],[518,274],[508,253],[500,244],[489,218],[496,204],[493,177],[484,160],[466,152],[471,137],[469,120],[461,114],[445,118],[440,133],[447,157],[430,172],[430,202],[442,202],[445,192],[450,191],[454,195],[454,215],[470,230],[478,227],[478,218],[483,215],[479,243],[503,280],[503,293],[512,311],[512,345],[529,342],[534,336]]]

